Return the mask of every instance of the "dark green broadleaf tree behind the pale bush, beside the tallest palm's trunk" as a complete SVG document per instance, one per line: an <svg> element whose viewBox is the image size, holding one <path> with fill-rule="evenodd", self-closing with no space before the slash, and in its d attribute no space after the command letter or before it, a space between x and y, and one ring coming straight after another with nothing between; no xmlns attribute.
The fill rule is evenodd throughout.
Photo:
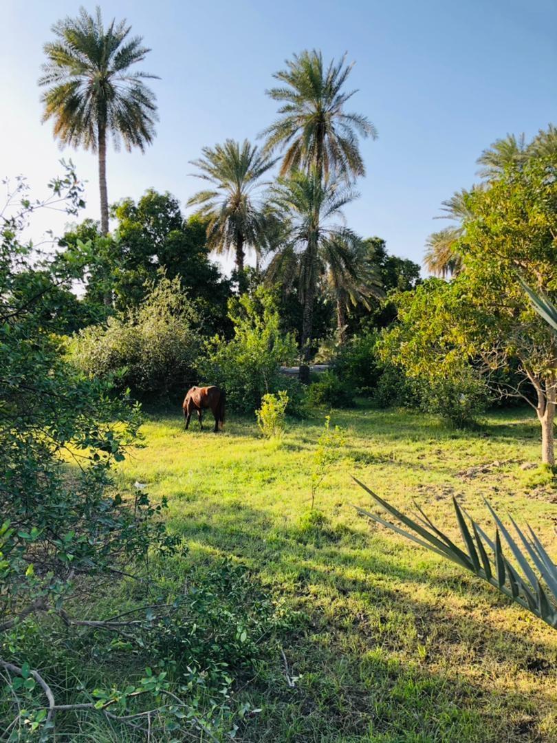
<svg viewBox="0 0 557 743"><path fill-rule="evenodd" d="M137 308L162 276L180 278L189 298L195 300L210 333L229 331L226 319L230 282L209 260L206 222L195 215L184 219L177 198L149 189L140 199L126 198L112 207L117 227L103 238L98 224L85 220L66 233L60 244L71 253L78 243L94 242L84 261L85 299L99 307L110 293L117 312ZM64 253L62 253L62 258ZM99 317L96 322L99 322Z"/></svg>

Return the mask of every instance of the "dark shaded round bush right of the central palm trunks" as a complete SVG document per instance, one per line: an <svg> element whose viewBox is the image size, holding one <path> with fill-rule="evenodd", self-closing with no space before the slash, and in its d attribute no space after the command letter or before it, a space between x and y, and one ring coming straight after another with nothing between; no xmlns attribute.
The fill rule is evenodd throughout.
<svg viewBox="0 0 557 743"><path fill-rule="evenodd" d="M333 371L339 380L362 394L376 389L382 375L376 343L377 333L356 336L341 346L333 363Z"/></svg>

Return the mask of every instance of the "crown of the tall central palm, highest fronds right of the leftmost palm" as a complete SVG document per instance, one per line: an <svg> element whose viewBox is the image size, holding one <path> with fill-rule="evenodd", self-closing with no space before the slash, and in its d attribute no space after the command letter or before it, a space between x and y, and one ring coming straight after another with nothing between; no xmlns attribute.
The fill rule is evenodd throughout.
<svg viewBox="0 0 557 743"><path fill-rule="evenodd" d="M353 65L323 65L321 52L303 51L287 60L287 69L273 77L282 86L267 91L282 103L279 117L264 132L267 152L284 151L280 175L315 168L319 178L330 173L350 180L365 175L357 134L377 137L374 125L361 114L347 113L345 103L356 91L342 87Z"/></svg>

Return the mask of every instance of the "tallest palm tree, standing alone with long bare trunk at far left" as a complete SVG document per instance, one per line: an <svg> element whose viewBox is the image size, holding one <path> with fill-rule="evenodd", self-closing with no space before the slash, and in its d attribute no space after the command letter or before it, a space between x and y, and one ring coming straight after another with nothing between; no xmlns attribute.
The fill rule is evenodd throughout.
<svg viewBox="0 0 557 743"><path fill-rule="evenodd" d="M142 37L128 39L126 21L102 25L100 8L90 16L80 8L77 18L65 18L52 27L56 41L45 44L48 62L39 85L48 86L42 95L45 113L53 119L54 136L62 145L83 146L99 155L100 223L108 234L106 188L106 144L111 134L118 149L143 152L154 137L157 107L152 91L143 80L154 78L129 68L145 59L150 50Z"/></svg>

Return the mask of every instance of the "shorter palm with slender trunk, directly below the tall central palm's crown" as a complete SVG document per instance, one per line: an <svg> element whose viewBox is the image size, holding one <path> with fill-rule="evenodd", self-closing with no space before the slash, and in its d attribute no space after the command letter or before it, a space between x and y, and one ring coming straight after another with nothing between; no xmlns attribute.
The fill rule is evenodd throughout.
<svg viewBox="0 0 557 743"><path fill-rule="evenodd" d="M313 331L313 305L319 277L324 265L334 259L336 276L346 272L348 257L354 255L359 238L336 219L342 218L342 207L357 198L350 186L330 179L322 181L316 167L309 173L294 172L290 178L279 178L270 189L270 208L284 224L284 247L272 259L269 276L290 276L299 280L303 305L300 347L304 363L300 380L309 379L310 342ZM345 279L348 283L348 278ZM339 286L340 286L339 282ZM344 285L342 286L344 289Z"/></svg>

